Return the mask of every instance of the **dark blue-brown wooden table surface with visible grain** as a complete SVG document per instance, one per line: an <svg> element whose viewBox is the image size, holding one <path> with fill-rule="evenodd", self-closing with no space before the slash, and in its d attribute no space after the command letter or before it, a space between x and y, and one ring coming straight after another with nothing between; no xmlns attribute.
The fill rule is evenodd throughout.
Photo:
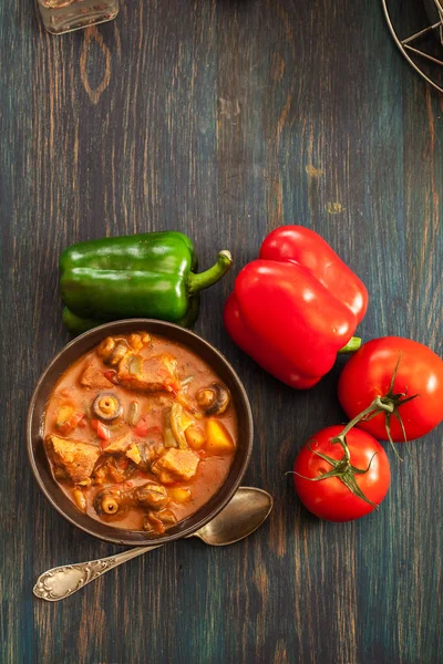
<svg viewBox="0 0 443 664"><path fill-rule="evenodd" d="M362 338L443 351L443 97L402 60L380 3L126 0L114 22L55 38L32 2L3 0L0 33L1 662L442 662L442 427L404 464L391 455L380 513L315 519L286 473L311 434L344 421L344 360L291 391L222 322L264 236L296 222L364 280ZM234 255L195 330L245 383L244 484L275 509L241 543L179 541L49 604L32 595L39 573L120 550L59 516L28 464L30 395L70 339L58 258L163 229L188 234L202 268Z"/></svg>

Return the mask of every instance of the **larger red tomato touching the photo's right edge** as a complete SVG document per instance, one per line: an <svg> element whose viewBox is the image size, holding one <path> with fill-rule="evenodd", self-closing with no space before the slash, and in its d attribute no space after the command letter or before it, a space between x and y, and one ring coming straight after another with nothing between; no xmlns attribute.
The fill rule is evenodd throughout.
<svg viewBox="0 0 443 664"><path fill-rule="evenodd" d="M390 394L396 404L408 440L420 438L443 419L443 361L425 345L383 336L363 344L346 364L339 380L339 400L350 419L364 411L377 396ZM402 401L418 395L402 404ZM358 426L377 438L387 440L387 416L383 413L360 422ZM404 442L401 425L390 417L392 440Z"/></svg>

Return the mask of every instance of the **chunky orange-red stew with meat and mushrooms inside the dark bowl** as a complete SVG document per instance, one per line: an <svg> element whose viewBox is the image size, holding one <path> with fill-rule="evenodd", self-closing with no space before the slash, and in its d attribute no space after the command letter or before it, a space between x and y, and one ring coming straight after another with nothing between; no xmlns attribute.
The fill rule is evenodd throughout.
<svg viewBox="0 0 443 664"><path fill-rule="evenodd" d="M133 343L143 335L143 344ZM184 345L143 332L107 339L109 347L105 340L80 357L54 386L44 417L48 458L55 481L83 512L110 526L158 537L205 505L226 479L237 446L235 405L212 367ZM125 345L123 360L112 364L109 349L115 355L115 349ZM97 415L99 395L99 405L105 407L110 398L111 406L116 400L121 415L111 422ZM182 425L174 432L173 407ZM119 445L117 452L106 452ZM80 450L85 450L82 457ZM192 468L181 465L182 457L190 459ZM147 485L151 494L136 494ZM102 496L111 501L100 504ZM103 511L104 506L116 511Z"/></svg>

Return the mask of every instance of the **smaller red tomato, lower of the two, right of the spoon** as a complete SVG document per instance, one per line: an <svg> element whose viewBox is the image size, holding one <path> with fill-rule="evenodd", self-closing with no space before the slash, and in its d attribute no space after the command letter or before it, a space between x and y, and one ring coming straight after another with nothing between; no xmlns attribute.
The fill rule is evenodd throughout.
<svg viewBox="0 0 443 664"><path fill-rule="evenodd" d="M331 443L331 438L342 430L342 426L333 425L318 432L301 448L293 466L293 485L301 502L313 515L328 521L352 521L373 511L374 505L380 505L387 495L391 481L387 453L375 438L357 428L352 428L346 436L350 463L354 469L367 470L368 466L369 469L361 475L354 474L353 477L358 490L374 505L353 494L339 477L317 481L305 479L321 477L333 469L332 464L316 453L331 459L343 459L343 448L339 443Z"/></svg>

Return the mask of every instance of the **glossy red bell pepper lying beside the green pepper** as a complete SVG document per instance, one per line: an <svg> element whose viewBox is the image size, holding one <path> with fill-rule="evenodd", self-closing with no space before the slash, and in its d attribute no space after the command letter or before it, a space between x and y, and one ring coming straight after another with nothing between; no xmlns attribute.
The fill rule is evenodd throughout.
<svg viewBox="0 0 443 664"><path fill-rule="evenodd" d="M233 340L266 371L307 390L348 350L367 308L364 284L317 232L282 226L239 272L224 319ZM351 341L349 350L358 345Z"/></svg>

